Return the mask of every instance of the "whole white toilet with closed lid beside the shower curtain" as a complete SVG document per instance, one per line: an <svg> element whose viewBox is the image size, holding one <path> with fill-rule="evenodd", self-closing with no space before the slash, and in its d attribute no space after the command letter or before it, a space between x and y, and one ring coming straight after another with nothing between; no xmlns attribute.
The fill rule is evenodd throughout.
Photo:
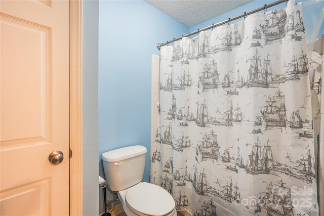
<svg viewBox="0 0 324 216"><path fill-rule="evenodd" d="M136 145L101 155L107 186L117 192L128 216L176 216L175 201L168 191L142 182L147 149Z"/></svg>

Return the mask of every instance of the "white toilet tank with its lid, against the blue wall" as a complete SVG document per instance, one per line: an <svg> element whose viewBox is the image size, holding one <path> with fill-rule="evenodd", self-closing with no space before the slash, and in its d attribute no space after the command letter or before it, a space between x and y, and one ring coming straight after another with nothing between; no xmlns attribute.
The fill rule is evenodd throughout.
<svg viewBox="0 0 324 216"><path fill-rule="evenodd" d="M108 188L121 191L143 180L145 155L144 146L129 146L104 152L101 155Z"/></svg>

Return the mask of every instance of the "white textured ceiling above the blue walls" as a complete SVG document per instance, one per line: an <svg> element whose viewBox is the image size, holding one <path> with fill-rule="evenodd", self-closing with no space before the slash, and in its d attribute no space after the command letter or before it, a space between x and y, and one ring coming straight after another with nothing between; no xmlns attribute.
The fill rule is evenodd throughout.
<svg viewBox="0 0 324 216"><path fill-rule="evenodd" d="M144 0L188 27L220 16L253 0Z"/></svg>

